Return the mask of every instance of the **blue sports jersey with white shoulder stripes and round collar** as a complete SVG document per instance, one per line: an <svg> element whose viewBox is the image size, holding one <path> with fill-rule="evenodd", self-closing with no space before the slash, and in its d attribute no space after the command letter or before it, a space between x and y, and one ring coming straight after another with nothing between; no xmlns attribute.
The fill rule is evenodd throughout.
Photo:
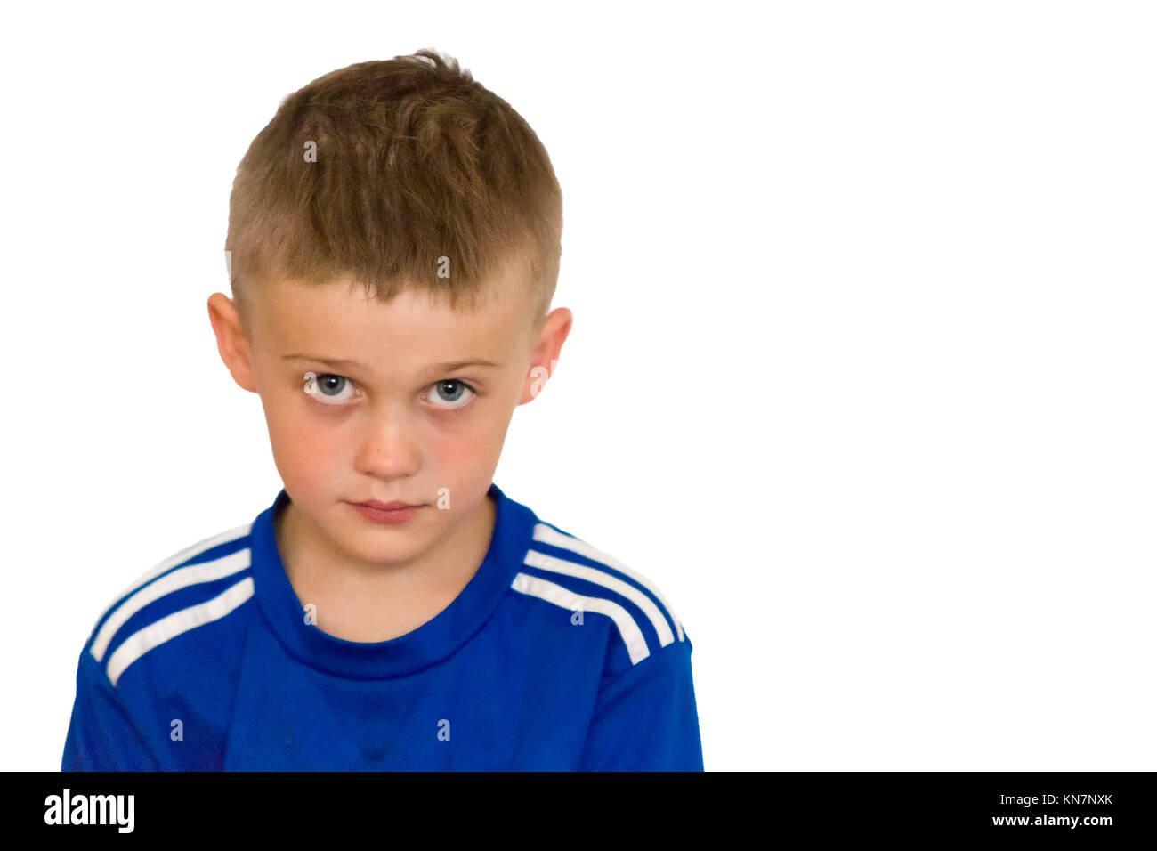
<svg viewBox="0 0 1157 851"><path fill-rule="evenodd" d="M653 582L507 497L458 596L412 632L310 623L273 519L125 589L81 651L71 770L694 770L691 640Z"/></svg>

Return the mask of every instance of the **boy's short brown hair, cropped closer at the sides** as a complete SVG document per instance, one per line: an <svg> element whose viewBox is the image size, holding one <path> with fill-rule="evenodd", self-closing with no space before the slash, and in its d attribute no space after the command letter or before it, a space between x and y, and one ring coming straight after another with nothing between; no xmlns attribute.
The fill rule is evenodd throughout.
<svg viewBox="0 0 1157 851"><path fill-rule="evenodd" d="M281 103L237 167L224 247L243 314L273 278L349 278L381 301L425 291L457 309L516 263L537 329L561 236L562 192L535 131L456 59L420 50Z"/></svg>

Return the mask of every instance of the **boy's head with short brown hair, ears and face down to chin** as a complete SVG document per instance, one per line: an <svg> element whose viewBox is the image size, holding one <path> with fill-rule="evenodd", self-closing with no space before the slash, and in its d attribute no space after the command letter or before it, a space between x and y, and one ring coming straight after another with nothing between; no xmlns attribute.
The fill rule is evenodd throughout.
<svg viewBox="0 0 1157 851"><path fill-rule="evenodd" d="M479 516L570 330L547 315L561 229L545 148L452 60L353 65L281 104L234 181L234 299L208 308L297 522L382 564ZM425 507L385 526L351 505L374 499Z"/></svg>

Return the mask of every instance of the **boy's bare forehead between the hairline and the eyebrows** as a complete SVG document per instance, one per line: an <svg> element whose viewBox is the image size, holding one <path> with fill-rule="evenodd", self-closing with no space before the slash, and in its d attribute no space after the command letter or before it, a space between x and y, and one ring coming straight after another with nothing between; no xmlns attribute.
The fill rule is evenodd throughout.
<svg viewBox="0 0 1157 851"><path fill-rule="evenodd" d="M510 274L487 281L476 305L456 309L447 296L420 289L382 302L349 278L275 279L263 283L253 313L255 345L279 355L308 352L403 371L467 358L502 361L529 330L526 291Z"/></svg>

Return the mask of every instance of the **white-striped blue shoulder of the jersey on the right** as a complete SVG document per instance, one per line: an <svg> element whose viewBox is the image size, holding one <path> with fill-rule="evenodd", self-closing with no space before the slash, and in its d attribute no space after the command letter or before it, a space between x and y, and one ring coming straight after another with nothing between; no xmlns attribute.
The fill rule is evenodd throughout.
<svg viewBox="0 0 1157 851"><path fill-rule="evenodd" d="M604 618L612 628L611 667L633 667L671 645L691 651L675 608L649 575L538 518L511 587L581 612L575 617Z"/></svg>

